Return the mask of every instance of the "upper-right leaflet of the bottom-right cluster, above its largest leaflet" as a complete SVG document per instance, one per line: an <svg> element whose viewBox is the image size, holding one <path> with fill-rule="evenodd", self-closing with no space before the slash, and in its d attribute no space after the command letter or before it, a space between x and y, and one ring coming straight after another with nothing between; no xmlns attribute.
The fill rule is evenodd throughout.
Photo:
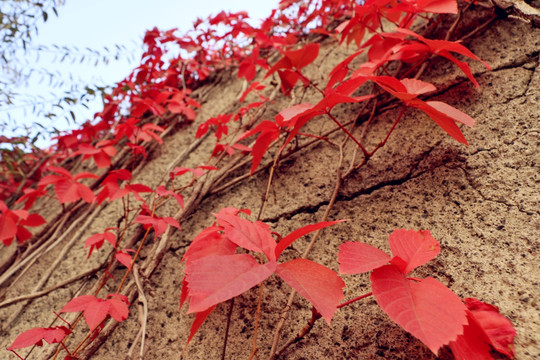
<svg viewBox="0 0 540 360"><path fill-rule="evenodd" d="M435 258L441 251L441 245L428 230L394 230L388 237L388 242L392 255L403 260L399 264L392 263L405 275Z"/></svg>

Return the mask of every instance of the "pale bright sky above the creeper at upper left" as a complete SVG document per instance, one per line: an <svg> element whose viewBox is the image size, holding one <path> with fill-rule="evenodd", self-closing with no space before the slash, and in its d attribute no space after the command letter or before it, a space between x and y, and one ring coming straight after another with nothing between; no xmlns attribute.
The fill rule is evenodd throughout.
<svg viewBox="0 0 540 360"><path fill-rule="evenodd" d="M278 5L278 0L248 1L248 0L66 0L64 5L57 8L58 17L49 14L48 21L38 26L38 34L32 39L34 45L46 45L49 48L58 46L86 47L103 51L104 47L114 49L116 44L124 45L128 50L122 52L119 61L109 64L95 65L95 61L84 61L75 64L69 61L58 61L58 54L41 53L27 55L27 60L47 69L49 73L59 73L55 80L72 77L76 82L89 84L112 85L125 78L137 65L142 53L142 37L147 29L158 27L168 30L178 28L184 33L191 28L197 17L206 18L221 10L247 11L253 19L267 17L271 10ZM56 60L55 60L56 57ZM132 59L131 61L129 59ZM52 99L51 91L61 93L62 88L49 86L49 78L35 77L31 84L18 91L45 99ZM101 101L89 104L90 109L76 108L76 121L82 123L92 118L95 112L101 110ZM4 109L5 110L5 109ZM73 122L63 118L48 121L36 118L31 108L19 107L7 110L18 125L39 121L47 128L55 127L60 130L76 127ZM0 116L6 116L6 110ZM44 143L44 139L41 143Z"/></svg>

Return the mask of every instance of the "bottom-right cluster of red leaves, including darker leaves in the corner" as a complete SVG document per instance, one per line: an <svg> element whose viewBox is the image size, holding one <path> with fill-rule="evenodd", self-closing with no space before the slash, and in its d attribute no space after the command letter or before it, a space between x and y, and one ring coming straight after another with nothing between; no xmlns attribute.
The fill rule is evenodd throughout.
<svg viewBox="0 0 540 360"><path fill-rule="evenodd" d="M513 357L515 330L495 307L476 299L465 299L463 304L434 278L406 277L440 252L438 241L429 231L395 230L388 241L393 257L371 245L342 244L338 254L340 273L372 271L371 286L379 306L435 354L450 345L457 359L492 359L492 345Z"/></svg>

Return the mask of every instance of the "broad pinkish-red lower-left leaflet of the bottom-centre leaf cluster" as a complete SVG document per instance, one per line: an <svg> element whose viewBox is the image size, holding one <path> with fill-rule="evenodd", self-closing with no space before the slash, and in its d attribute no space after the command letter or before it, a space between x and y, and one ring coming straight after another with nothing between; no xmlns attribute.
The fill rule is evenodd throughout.
<svg viewBox="0 0 540 360"><path fill-rule="evenodd" d="M272 275L275 268L275 262L261 265L249 254L206 256L193 261L186 271L188 313L207 310L244 293Z"/></svg>

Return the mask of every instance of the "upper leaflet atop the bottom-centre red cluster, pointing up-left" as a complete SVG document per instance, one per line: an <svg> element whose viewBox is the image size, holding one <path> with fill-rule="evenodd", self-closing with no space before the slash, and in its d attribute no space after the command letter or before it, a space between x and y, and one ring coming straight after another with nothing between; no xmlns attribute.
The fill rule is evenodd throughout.
<svg viewBox="0 0 540 360"><path fill-rule="evenodd" d="M234 215L218 214L216 218L230 241L244 249L265 254L269 261L276 260L276 241L272 237L270 226Z"/></svg>

